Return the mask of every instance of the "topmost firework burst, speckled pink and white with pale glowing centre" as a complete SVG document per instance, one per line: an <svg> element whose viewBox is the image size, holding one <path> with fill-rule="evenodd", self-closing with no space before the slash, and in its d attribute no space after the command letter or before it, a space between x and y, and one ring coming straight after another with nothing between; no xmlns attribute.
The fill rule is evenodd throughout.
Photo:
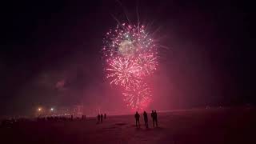
<svg viewBox="0 0 256 144"><path fill-rule="evenodd" d="M155 44L144 26L130 26L125 23L106 33L103 39L103 53L107 58L119 56L136 56L154 52Z"/></svg>

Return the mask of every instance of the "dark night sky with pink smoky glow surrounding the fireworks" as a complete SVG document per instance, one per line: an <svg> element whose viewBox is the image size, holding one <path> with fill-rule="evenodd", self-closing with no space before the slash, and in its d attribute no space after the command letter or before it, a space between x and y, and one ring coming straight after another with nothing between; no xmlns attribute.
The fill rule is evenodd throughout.
<svg viewBox="0 0 256 144"><path fill-rule="evenodd" d="M121 22L153 22L161 43L150 108L255 104L253 8L235 1L17 1L2 3L0 115L37 106L123 110L104 77L102 38Z"/></svg>

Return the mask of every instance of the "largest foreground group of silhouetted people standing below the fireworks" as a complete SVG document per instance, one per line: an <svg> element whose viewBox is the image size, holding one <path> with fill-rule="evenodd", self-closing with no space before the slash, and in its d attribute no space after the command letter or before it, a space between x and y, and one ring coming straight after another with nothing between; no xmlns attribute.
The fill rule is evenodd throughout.
<svg viewBox="0 0 256 144"><path fill-rule="evenodd" d="M140 115L138 114L138 111L136 111L136 114L134 115L134 117L135 117L135 121L136 121L136 127L138 128L138 127L140 127L140 123L139 123ZM145 123L146 129L147 129L147 128L149 128L149 119L147 117L146 111L143 112L143 118L144 118L144 123ZM158 114L157 114L156 110L152 110L151 118L153 121L153 127L154 126L158 127Z"/></svg>

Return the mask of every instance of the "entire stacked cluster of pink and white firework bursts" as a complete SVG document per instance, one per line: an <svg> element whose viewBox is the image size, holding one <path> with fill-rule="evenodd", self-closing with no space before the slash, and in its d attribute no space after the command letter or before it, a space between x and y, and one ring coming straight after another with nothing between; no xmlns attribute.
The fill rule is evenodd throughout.
<svg viewBox="0 0 256 144"><path fill-rule="evenodd" d="M150 88L144 82L157 70L157 46L145 26L126 23L109 30L103 38L106 78L123 87L125 102L132 109L143 109L151 101Z"/></svg>

